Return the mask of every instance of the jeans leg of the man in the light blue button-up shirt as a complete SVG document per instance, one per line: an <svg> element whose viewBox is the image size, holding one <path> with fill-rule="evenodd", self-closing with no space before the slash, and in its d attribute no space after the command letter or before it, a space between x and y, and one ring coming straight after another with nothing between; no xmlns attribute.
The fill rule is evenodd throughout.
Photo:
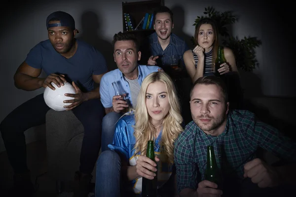
<svg viewBox="0 0 296 197"><path fill-rule="evenodd" d="M113 142L116 122L123 115L123 113L110 112L102 122L102 152L109 150L108 144Z"/></svg>

